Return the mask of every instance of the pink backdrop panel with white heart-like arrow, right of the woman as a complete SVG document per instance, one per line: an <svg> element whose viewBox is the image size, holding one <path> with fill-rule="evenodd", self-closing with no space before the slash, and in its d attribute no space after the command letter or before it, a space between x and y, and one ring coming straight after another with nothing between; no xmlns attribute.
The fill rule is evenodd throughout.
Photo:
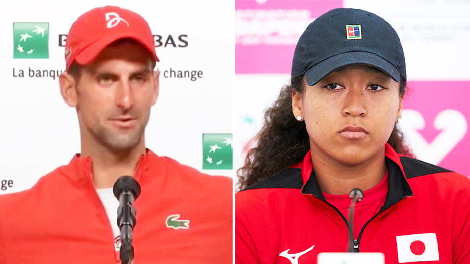
<svg viewBox="0 0 470 264"><path fill-rule="evenodd" d="M470 81L409 81L408 87L402 127L415 154L470 176Z"/></svg>

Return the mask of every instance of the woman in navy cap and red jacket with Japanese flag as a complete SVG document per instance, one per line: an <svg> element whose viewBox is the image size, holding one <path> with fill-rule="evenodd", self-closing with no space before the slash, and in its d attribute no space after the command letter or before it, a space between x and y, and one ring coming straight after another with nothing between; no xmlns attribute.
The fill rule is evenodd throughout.
<svg viewBox="0 0 470 264"><path fill-rule="evenodd" d="M405 88L400 39L382 18L339 8L306 28L238 171L236 263L346 251L470 263L470 180L413 158L397 128Z"/></svg>

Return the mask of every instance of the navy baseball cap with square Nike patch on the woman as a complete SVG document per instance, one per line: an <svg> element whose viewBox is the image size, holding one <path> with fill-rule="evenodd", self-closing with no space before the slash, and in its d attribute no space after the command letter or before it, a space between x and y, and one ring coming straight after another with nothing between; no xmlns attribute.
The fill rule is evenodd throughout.
<svg viewBox="0 0 470 264"><path fill-rule="evenodd" d="M397 32L381 17L361 9L333 9L308 25L295 47L292 77L309 86L349 64L373 66L394 81L406 81Z"/></svg>

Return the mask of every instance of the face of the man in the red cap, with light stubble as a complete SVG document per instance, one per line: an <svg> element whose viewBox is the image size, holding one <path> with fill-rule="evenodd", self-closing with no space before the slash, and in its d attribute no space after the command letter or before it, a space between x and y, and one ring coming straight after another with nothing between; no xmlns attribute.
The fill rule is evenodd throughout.
<svg viewBox="0 0 470 264"><path fill-rule="evenodd" d="M158 73L141 45L121 42L106 47L81 69L76 81L82 144L122 151L143 143L158 95Z"/></svg>

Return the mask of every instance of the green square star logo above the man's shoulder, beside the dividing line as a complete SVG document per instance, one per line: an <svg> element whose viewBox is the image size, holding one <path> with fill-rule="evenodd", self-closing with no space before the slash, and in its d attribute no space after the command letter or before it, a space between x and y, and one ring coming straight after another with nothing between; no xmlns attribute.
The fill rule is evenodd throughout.
<svg viewBox="0 0 470 264"><path fill-rule="evenodd" d="M232 170L232 134L203 134L202 155L203 170Z"/></svg>

